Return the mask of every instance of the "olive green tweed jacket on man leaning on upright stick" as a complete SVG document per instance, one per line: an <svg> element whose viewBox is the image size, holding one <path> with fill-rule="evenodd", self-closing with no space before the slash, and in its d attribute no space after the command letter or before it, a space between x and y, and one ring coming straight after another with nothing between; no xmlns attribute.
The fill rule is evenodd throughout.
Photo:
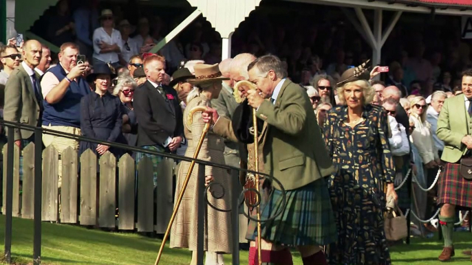
<svg viewBox="0 0 472 265"><path fill-rule="evenodd" d="M264 172L277 178L286 190L303 187L333 172L310 99L298 84L285 80L275 104L264 101L257 117L265 122L259 143ZM237 141L226 117L219 118L213 132Z"/></svg>

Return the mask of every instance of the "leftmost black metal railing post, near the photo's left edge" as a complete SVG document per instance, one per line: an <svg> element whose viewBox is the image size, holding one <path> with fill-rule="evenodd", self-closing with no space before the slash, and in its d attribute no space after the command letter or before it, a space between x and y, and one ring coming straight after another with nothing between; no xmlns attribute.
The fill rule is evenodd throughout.
<svg viewBox="0 0 472 265"><path fill-rule="evenodd" d="M6 187L6 220L5 220L5 262L12 264L12 204L13 204L13 159L14 159L14 130L8 126L7 147L7 187Z"/></svg>

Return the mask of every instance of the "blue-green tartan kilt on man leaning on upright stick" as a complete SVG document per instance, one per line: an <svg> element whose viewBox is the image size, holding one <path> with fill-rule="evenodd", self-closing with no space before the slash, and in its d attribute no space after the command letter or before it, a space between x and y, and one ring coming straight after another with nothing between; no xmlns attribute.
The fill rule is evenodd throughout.
<svg viewBox="0 0 472 265"><path fill-rule="evenodd" d="M336 220L331 207L330 194L324 178L298 189L283 192L272 187L266 200L261 201L261 220L282 211L268 222L261 222L261 238L284 246L315 246L336 241ZM264 196L264 194L263 194ZM252 216L255 216L255 211ZM250 220L246 239L257 238L257 222Z"/></svg>

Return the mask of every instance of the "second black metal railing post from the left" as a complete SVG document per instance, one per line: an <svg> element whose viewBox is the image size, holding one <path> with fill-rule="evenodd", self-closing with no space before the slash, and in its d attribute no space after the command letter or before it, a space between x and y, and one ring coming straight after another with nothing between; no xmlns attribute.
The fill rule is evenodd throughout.
<svg viewBox="0 0 472 265"><path fill-rule="evenodd" d="M34 239L33 264L41 264L41 200L43 193L43 141L42 132L34 130Z"/></svg>

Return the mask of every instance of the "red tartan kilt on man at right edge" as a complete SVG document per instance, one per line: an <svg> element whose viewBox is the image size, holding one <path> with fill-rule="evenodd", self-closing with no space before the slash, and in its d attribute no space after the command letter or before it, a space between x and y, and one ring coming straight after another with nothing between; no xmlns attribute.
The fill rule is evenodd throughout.
<svg viewBox="0 0 472 265"><path fill-rule="evenodd" d="M459 163L447 163L438 180L438 204L472 207L472 181L462 178Z"/></svg>

